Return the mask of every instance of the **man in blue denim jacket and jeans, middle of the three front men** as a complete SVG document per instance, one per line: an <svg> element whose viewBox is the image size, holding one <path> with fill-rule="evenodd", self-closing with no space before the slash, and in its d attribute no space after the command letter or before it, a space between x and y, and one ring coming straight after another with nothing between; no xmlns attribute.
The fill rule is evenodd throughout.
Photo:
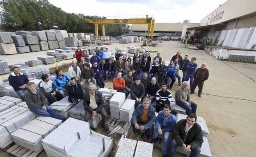
<svg viewBox="0 0 256 157"><path fill-rule="evenodd" d="M174 129L176 124L176 117L171 114L171 106L165 104L163 111L158 113L158 116L155 119L155 125L153 130L153 139L150 143L158 141L158 135L164 136L164 145L162 148L162 157L167 157L167 150L169 145L169 136Z"/></svg>

